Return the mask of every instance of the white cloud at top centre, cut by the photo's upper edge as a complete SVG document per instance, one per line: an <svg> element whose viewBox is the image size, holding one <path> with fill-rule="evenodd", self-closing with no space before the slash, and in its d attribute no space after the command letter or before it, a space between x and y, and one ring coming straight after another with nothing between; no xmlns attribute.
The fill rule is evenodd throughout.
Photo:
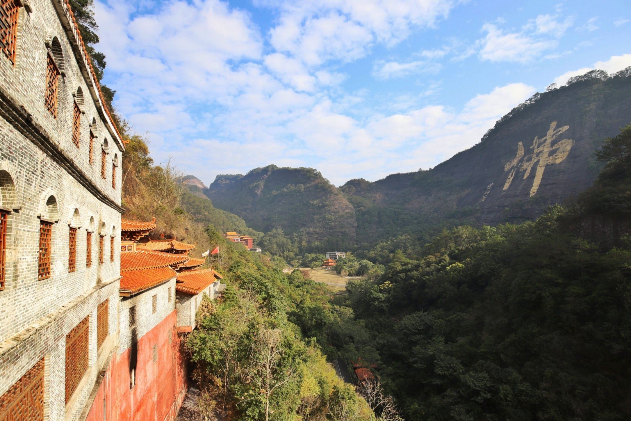
<svg viewBox="0 0 631 421"><path fill-rule="evenodd" d="M281 9L269 31L274 49L309 66L329 60L352 61L376 44L394 45L413 28L433 27L445 18L452 0L300 0L259 2Z"/></svg>

